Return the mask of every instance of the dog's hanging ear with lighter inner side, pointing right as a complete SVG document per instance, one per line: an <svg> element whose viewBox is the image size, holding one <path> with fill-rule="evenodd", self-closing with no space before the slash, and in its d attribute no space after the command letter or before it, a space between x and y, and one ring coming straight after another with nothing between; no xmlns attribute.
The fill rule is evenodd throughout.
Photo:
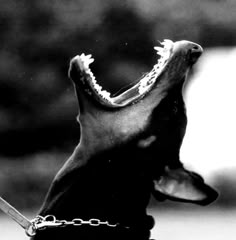
<svg viewBox="0 0 236 240"><path fill-rule="evenodd" d="M183 167L166 167L160 179L154 180L153 196L157 200L169 199L208 205L216 200L218 193L208 186L200 175Z"/></svg>

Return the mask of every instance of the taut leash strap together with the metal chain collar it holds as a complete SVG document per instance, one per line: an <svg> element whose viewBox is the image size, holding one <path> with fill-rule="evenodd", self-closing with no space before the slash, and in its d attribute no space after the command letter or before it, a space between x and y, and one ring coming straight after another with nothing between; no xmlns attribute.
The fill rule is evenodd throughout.
<svg viewBox="0 0 236 240"><path fill-rule="evenodd" d="M36 218L29 220L10 203L0 197L0 209L6 213L11 219L17 222L24 230L27 236L35 236L38 230L44 230L46 228L66 227L66 226L82 226L89 225L93 227L107 226L117 227L119 224L109 223L108 221L101 221L97 218L91 218L89 220L83 220L81 218L74 218L72 221L57 220L54 215L47 215L45 217L38 215ZM126 227L125 228L130 228Z"/></svg>

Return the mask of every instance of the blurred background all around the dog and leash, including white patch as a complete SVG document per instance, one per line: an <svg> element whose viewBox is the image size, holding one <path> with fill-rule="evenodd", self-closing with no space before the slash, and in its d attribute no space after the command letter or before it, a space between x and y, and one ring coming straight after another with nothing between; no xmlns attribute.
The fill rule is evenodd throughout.
<svg viewBox="0 0 236 240"><path fill-rule="evenodd" d="M158 40L204 48L186 87L186 167L215 186L209 207L150 202L160 240L236 234L235 0L0 0L0 196L34 217L79 140L70 59L92 54L115 93L156 62ZM0 212L1 239L27 239Z"/></svg>

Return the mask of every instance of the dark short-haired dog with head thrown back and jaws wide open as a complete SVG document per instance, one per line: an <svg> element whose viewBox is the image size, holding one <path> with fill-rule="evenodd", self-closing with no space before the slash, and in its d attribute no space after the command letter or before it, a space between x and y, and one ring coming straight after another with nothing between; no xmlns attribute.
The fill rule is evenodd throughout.
<svg viewBox="0 0 236 240"><path fill-rule="evenodd" d="M179 159L187 124L182 89L203 50L189 41L161 44L153 69L118 96L97 83L91 55L71 60L80 142L39 211L70 224L38 230L33 240L148 240L154 226L146 212L151 195L200 205L217 198Z"/></svg>

